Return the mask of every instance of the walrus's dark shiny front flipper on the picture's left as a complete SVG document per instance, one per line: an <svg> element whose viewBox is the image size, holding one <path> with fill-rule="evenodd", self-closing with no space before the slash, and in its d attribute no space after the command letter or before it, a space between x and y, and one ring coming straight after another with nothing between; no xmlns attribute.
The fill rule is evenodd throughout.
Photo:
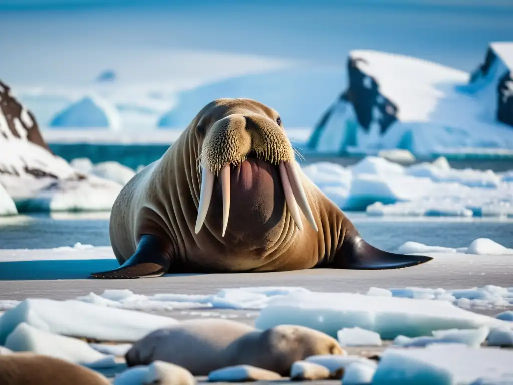
<svg viewBox="0 0 513 385"><path fill-rule="evenodd" d="M143 235L135 254L120 267L107 272L91 273L91 276L104 279L160 277L171 266L171 256L163 243L153 235Z"/></svg>

